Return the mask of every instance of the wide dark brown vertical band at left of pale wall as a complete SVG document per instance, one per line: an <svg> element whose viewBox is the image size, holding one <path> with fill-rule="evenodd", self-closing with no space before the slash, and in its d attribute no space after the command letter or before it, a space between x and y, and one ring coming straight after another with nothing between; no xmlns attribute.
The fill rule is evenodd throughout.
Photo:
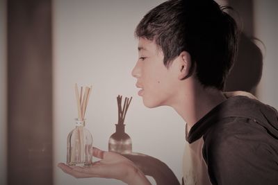
<svg viewBox="0 0 278 185"><path fill-rule="evenodd" d="M51 0L8 0L8 184L53 184Z"/></svg>

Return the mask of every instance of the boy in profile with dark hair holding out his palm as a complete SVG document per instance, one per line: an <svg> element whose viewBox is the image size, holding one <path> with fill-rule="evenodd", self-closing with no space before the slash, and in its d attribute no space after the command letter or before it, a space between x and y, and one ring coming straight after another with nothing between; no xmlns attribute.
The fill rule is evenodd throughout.
<svg viewBox="0 0 278 185"><path fill-rule="evenodd" d="M167 105L186 122L184 184L277 184L277 111L245 96L227 98L224 82L237 51L236 23L212 0L171 0L136 28L132 71L147 107ZM93 150L90 168L59 164L74 177L149 184L133 162Z"/></svg>

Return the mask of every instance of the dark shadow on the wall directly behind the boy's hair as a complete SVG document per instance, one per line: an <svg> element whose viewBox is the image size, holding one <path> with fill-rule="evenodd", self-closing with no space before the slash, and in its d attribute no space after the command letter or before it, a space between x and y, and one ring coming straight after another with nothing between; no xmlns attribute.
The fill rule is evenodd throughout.
<svg viewBox="0 0 278 185"><path fill-rule="evenodd" d="M231 12L242 30L239 37L238 56L227 78L225 91L248 91L256 95L256 86L261 80L263 69L263 55L254 44L254 10L253 0L229 1L229 6L234 8Z"/></svg>

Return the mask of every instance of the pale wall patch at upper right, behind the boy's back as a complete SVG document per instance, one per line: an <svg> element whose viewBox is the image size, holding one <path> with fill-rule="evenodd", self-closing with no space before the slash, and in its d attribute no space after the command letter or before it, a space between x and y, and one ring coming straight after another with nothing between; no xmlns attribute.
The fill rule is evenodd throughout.
<svg viewBox="0 0 278 185"><path fill-rule="evenodd" d="M261 39L263 73L258 86L258 97L278 109L278 1L254 1L254 34Z"/></svg>

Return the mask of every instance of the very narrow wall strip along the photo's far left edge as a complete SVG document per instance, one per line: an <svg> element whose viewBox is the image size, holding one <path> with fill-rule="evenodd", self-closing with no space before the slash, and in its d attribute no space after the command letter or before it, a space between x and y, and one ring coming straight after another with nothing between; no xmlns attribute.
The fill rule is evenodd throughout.
<svg viewBox="0 0 278 185"><path fill-rule="evenodd" d="M0 184L6 184L6 1L0 0Z"/></svg>

